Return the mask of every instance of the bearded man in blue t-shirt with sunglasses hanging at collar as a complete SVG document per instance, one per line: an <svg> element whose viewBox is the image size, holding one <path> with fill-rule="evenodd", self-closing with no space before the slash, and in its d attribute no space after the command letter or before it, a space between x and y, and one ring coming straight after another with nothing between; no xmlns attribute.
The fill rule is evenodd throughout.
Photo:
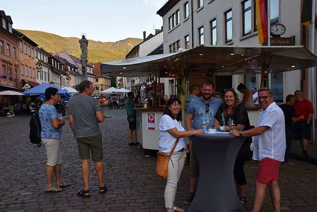
<svg viewBox="0 0 317 212"><path fill-rule="evenodd" d="M217 98L212 98L213 83L209 80L203 83L202 97L193 99L187 108L186 116L186 128L187 130L202 129L202 117L209 118L208 127L212 127L214 115L218 111L219 106L222 105L222 101ZM192 125L193 119L193 125ZM184 204L190 205L195 197L196 184L199 177L199 165L194 147L191 148L190 154L190 166L189 166L189 183L190 183L190 195L184 201Z"/></svg>

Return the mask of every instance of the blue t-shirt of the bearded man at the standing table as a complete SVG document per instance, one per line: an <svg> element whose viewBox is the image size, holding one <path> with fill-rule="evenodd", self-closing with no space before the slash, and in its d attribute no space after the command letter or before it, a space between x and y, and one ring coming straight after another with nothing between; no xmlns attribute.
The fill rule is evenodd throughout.
<svg viewBox="0 0 317 212"><path fill-rule="evenodd" d="M212 97L211 101L207 103L209 105L209 111L206 113L206 103L203 102L202 97L193 99L188 106L187 113L193 114L193 128L203 129L202 117L205 115L210 117L210 123L207 128L212 127L214 116L222 105L222 100Z"/></svg>

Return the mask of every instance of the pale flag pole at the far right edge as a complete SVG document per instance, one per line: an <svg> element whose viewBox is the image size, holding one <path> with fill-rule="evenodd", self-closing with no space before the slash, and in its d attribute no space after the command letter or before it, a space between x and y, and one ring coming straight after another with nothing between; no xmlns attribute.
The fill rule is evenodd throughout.
<svg viewBox="0 0 317 212"><path fill-rule="evenodd" d="M316 14L316 0L313 0L312 2L312 24L311 24L311 52L315 54L315 14ZM312 73L312 101L314 110L316 111L316 68L313 67L313 73ZM315 117L316 112L314 112L313 115L313 140L312 143L315 144Z"/></svg>

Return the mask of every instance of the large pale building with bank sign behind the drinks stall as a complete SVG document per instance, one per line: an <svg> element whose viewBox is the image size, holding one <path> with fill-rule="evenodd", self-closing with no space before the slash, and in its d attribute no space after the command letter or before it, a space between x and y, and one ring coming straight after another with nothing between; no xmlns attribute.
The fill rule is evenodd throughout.
<svg viewBox="0 0 317 212"><path fill-rule="evenodd" d="M295 45L308 43L308 30L301 25L301 4L301 0L270 0L270 23L285 25L282 37L295 36ZM259 47L255 8L255 0L168 0L157 12L163 18L164 53L203 44ZM268 85L275 100L283 102L298 89L305 94L309 84L305 72L307 70L269 74ZM231 84L225 83L230 81ZM215 87L218 91L231 86L236 89L241 82L250 90L259 89L261 75L217 76ZM173 83L169 80L169 94L174 92Z"/></svg>

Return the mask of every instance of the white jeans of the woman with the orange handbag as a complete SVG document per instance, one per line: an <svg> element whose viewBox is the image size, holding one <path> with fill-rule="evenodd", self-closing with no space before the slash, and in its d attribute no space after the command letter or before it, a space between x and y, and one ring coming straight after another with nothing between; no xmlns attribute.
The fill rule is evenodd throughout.
<svg viewBox="0 0 317 212"><path fill-rule="evenodd" d="M165 208L173 208L177 190L177 182L182 173L186 151L174 153L168 162L168 175L164 192ZM173 166L174 165L174 166Z"/></svg>

